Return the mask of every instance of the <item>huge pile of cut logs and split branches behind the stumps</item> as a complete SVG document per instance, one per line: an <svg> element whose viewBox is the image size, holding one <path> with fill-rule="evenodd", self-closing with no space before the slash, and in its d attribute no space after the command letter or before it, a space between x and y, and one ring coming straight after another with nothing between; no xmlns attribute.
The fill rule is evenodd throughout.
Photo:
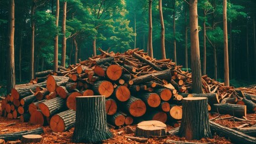
<svg viewBox="0 0 256 144"><path fill-rule="evenodd" d="M139 49L125 53L99 50L101 55L59 68L57 73L37 73L39 83L16 85L2 100L3 114L31 124L49 124L59 132L73 127L76 97L82 95L105 95L107 121L113 126L158 120L178 127L183 97L208 97L208 110L221 112L225 106L246 116L247 106L255 112L255 96L249 99L243 89L223 86L207 75L202 76L204 94L191 94L192 74L170 59L152 59ZM237 108L237 101L245 106Z"/></svg>

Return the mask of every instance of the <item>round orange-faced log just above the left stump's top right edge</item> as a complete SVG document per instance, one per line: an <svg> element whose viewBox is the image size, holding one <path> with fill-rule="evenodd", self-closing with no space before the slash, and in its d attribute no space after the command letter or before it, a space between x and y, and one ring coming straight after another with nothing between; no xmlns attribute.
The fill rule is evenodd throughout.
<svg viewBox="0 0 256 144"><path fill-rule="evenodd" d="M108 82L107 80L102 80L94 83L93 90L97 94L105 95L105 97L108 98L111 94L113 94L114 86L111 82Z"/></svg>

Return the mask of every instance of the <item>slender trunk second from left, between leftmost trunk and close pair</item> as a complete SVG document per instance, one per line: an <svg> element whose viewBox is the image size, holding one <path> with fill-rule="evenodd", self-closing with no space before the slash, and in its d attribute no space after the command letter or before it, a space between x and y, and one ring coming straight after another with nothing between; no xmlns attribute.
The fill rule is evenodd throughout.
<svg viewBox="0 0 256 144"><path fill-rule="evenodd" d="M35 50L35 21L34 14L36 10L36 1L33 0L31 6L31 49L30 49L30 79L34 79L34 50Z"/></svg>

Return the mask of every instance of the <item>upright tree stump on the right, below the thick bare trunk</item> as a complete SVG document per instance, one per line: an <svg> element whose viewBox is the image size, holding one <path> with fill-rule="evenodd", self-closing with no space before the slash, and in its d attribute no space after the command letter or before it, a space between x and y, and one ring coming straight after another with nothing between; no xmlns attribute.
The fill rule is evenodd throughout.
<svg viewBox="0 0 256 144"><path fill-rule="evenodd" d="M186 140L211 137L206 97L183 98L183 118L179 135Z"/></svg>

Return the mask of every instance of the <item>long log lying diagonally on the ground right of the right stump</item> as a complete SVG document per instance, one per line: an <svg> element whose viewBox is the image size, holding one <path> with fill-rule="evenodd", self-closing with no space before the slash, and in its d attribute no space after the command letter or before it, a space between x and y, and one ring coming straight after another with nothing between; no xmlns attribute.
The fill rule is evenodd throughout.
<svg viewBox="0 0 256 144"><path fill-rule="evenodd" d="M228 127L223 127L222 125L217 124L216 122L209 121L210 128L213 133L217 133L219 136L224 136L226 139L230 139L233 143L246 143L246 144L255 144L256 137L248 136L242 132L233 130Z"/></svg>

